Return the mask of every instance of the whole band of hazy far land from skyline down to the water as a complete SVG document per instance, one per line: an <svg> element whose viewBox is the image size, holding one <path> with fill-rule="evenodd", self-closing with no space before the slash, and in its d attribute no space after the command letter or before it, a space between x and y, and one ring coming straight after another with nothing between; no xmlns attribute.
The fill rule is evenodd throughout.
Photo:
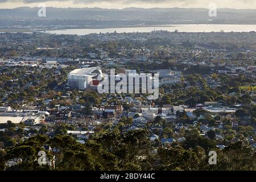
<svg viewBox="0 0 256 182"><path fill-rule="evenodd" d="M217 9L217 17L210 17L203 8L125 9L53 8L47 7L46 17L38 16L38 7L0 9L0 27L8 26L75 26L129 27L157 24L256 24L256 10ZM40 20L40 21L39 21Z"/></svg>

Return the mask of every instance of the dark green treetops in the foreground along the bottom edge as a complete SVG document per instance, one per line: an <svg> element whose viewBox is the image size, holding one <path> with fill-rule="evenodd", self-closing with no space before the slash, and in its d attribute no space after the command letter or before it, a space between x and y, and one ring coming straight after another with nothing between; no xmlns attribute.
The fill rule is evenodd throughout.
<svg viewBox="0 0 256 182"><path fill-rule="evenodd" d="M156 155L150 154L152 145L145 129L125 133L118 129L100 131L85 144L68 135L53 138L37 135L6 151L0 150L0 169L5 169L5 163L13 160L17 164L7 170L255 170L256 152L249 144L232 143L220 150L202 138L198 130L186 132L184 145L159 147ZM46 145L53 148L46 154L47 159L55 156L55 168L38 163L38 152ZM210 150L217 152L217 165L208 163Z"/></svg>

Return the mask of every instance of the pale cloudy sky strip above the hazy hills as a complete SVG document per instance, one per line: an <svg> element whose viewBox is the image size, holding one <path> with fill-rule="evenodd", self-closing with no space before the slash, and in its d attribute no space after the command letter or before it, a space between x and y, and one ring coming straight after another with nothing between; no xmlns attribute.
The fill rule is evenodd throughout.
<svg viewBox="0 0 256 182"><path fill-rule="evenodd" d="M106 9L125 7L202 7L209 9L210 3L215 3L217 8L256 9L256 0L0 0L0 8L38 7L39 3L44 3L47 7L101 7Z"/></svg>

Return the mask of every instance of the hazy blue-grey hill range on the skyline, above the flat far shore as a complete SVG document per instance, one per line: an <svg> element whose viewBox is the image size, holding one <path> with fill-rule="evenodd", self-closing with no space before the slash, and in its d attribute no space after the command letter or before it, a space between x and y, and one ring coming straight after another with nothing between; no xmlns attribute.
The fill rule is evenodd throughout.
<svg viewBox="0 0 256 182"><path fill-rule="evenodd" d="M0 9L1 18L42 19L37 16L39 8L19 7ZM47 7L47 19L88 19L88 20L159 20L162 22L200 22L208 19L230 23L255 22L256 10L217 9L217 17L209 17L208 9L152 8L126 9L101 8L53 8Z"/></svg>

